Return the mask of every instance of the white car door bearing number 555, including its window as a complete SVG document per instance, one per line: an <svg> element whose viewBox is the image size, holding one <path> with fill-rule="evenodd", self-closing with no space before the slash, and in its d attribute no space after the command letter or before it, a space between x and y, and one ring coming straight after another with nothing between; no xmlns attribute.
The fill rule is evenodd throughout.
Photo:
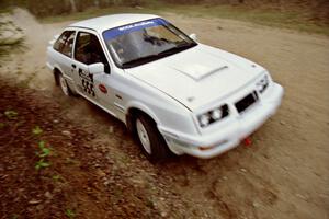
<svg viewBox="0 0 329 219"><path fill-rule="evenodd" d="M111 77L110 66L97 34L91 31L79 31L73 57L71 68L78 92L114 114L113 93L106 83ZM98 74L90 73L89 66L98 62L104 65L105 71Z"/></svg>

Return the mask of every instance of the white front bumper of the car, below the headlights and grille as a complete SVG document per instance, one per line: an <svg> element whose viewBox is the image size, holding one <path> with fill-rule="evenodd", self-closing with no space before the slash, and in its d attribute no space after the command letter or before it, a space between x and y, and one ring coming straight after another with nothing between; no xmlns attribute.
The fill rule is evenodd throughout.
<svg viewBox="0 0 329 219"><path fill-rule="evenodd" d="M159 127L168 147L177 154L190 154L208 159L237 147L242 139L254 132L281 105L284 90L273 83L272 88L246 114L230 119L224 127L200 136L175 134Z"/></svg>

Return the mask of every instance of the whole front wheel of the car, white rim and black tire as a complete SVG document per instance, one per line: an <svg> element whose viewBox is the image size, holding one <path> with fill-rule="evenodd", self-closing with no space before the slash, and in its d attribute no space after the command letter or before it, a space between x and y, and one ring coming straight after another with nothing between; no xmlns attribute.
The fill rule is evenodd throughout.
<svg viewBox="0 0 329 219"><path fill-rule="evenodd" d="M140 148L150 161L162 161L171 154L157 125L149 117L138 115L135 119L135 129Z"/></svg>

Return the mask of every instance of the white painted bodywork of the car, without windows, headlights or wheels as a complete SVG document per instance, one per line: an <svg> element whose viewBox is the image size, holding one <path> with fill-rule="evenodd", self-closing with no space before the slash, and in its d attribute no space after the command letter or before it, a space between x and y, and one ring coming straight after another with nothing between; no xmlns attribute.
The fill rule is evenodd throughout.
<svg viewBox="0 0 329 219"><path fill-rule="evenodd" d="M218 155L238 146L241 139L274 115L282 101L283 88L273 82L261 66L211 46L198 44L135 68L118 68L105 46L103 31L155 18L159 16L117 14L86 20L66 28L92 33L101 43L111 74L93 76L95 97L81 92L77 70L71 68L75 64L77 69L88 72L88 66L56 51L53 48L55 41L50 41L47 48L47 67L53 72L55 69L60 71L73 92L126 125L131 108L145 112L157 123L168 147L177 154ZM257 92L258 101L239 113L235 104L254 92L257 82L264 76L269 77L266 90ZM100 92L99 84L103 84L107 92ZM197 116L223 104L228 105L229 115L201 127Z"/></svg>

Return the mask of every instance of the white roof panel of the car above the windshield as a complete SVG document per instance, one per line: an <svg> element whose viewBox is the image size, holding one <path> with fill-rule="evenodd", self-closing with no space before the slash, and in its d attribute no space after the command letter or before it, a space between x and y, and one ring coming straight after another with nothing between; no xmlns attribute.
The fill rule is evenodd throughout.
<svg viewBox="0 0 329 219"><path fill-rule="evenodd" d="M83 21L79 21L77 23L70 24L69 27L82 27L82 28L91 28L99 33L106 31L109 28L114 28L117 26L123 26L126 24L135 23L138 21L145 21L149 19L159 18L154 14L112 14L105 16L99 16L94 19L88 19Z"/></svg>

